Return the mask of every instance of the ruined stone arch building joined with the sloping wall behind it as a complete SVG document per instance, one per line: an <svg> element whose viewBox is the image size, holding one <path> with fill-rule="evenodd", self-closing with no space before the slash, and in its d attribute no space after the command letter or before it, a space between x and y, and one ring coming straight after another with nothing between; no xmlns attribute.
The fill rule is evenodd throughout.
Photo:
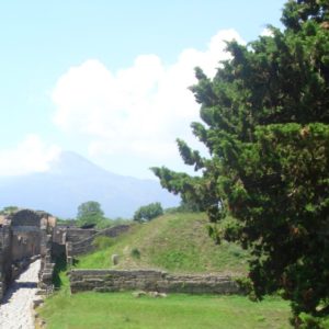
<svg viewBox="0 0 329 329"><path fill-rule="evenodd" d="M7 287L32 260L41 258L38 287L41 294L48 294L57 257L65 257L71 264L73 257L94 249L93 240L99 235L113 237L128 228L121 225L99 231L60 226L50 214L31 209L0 216L0 302Z"/></svg>

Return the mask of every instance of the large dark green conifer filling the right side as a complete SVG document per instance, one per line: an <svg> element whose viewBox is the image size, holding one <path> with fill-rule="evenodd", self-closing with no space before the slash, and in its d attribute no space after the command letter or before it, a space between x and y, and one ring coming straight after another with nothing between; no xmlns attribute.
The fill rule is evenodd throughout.
<svg viewBox="0 0 329 329"><path fill-rule="evenodd" d="M250 249L257 297L281 290L296 327L302 313L329 314L328 9L327 0L291 0L284 31L229 43L231 59L213 80L197 68L191 90L203 123L192 129L211 158L178 140L202 175L152 169L162 186L207 212L217 241ZM236 223L219 231L227 214Z"/></svg>

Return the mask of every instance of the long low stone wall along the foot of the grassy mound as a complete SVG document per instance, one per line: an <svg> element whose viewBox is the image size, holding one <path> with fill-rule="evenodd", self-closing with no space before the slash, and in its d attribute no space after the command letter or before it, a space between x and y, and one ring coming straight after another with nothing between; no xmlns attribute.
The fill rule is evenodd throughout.
<svg viewBox="0 0 329 329"><path fill-rule="evenodd" d="M189 294L239 294L238 284L229 276L175 275L152 270L71 270L71 293L148 291Z"/></svg>

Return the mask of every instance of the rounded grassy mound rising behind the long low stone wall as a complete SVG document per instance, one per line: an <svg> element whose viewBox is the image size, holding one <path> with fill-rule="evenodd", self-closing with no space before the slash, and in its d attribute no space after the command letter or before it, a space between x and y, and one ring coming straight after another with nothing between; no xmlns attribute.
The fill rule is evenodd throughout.
<svg viewBox="0 0 329 329"><path fill-rule="evenodd" d="M204 214L171 214L132 230L114 240L113 246L80 257L78 268L109 269L111 254L121 257L117 268L152 268L171 272L247 271L247 252L235 243L215 246L206 229Z"/></svg>

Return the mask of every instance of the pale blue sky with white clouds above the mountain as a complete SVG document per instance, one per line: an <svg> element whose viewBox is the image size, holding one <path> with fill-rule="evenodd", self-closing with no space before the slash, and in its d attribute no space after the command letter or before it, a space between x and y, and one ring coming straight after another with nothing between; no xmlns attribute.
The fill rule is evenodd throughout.
<svg viewBox="0 0 329 329"><path fill-rule="evenodd" d="M189 170L194 68L213 77L225 39L281 27L283 0L0 2L0 178L75 151L114 173Z"/></svg>

